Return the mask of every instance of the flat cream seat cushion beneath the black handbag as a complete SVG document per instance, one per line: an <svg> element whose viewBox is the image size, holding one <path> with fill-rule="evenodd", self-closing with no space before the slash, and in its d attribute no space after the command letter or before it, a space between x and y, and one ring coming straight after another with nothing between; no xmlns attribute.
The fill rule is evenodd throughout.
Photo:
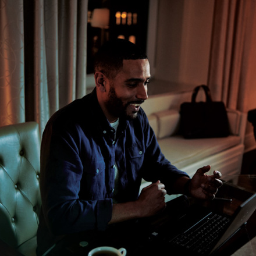
<svg viewBox="0 0 256 256"><path fill-rule="evenodd" d="M158 140L158 143L165 157L178 169L182 169L191 163L234 147L240 144L240 141L241 138L238 136L186 140L176 135Z"/></svg>

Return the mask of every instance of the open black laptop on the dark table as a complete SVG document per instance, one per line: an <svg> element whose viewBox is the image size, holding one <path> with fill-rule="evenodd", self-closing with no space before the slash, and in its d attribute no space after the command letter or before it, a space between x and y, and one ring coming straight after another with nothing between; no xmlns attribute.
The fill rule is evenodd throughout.
<svg viewBox="0 0 256 256"><path fill-rule="evenodd" d="M200 205L192 205L186 214L177 221L165 223L155 229L149 239L158 241L166 252L179 251L180 255L214 255L227 240L243 227L256 209L256 194L243 190L233 184L223 184L223 191L232 194L232 189L239 191L238 202L218 202L229 212L236 208L232 215L222 211L211 211ZM226 194L224 193L225 197ZM168 254L166 254L168 255Z"/></svg>

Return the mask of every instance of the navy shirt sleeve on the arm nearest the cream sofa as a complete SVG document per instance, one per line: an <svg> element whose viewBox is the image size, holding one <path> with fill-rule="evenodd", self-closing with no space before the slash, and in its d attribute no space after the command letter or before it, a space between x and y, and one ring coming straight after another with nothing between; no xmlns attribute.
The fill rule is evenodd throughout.
<svg viewBox="0 0 256 256"><path fill-rule="evenodd" d="M151 128L147 116L141 111L142 124L144 129L145 158L143 164L143 179L150 182L161 180L165 184L168 194L172 193L172 186L176 179L181 176L187 176L186 172L179 170L176 166L165 158L159 147L157 137ZM170 145L170 147L175 145Z"/></svg>

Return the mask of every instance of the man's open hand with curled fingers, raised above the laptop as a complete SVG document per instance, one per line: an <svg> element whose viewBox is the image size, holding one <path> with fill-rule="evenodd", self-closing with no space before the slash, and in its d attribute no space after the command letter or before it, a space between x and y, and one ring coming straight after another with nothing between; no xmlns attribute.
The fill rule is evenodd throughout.
<svg viewBox="0 0 256 256"><path fill-rule="evenodd" d="M214 171L214 175L206 175L211 169L210 165L204 166L197 170L189 184L190 195L200 199L214 199L218 188L222 186L219 178L222 176L218 170Z"/></svg>

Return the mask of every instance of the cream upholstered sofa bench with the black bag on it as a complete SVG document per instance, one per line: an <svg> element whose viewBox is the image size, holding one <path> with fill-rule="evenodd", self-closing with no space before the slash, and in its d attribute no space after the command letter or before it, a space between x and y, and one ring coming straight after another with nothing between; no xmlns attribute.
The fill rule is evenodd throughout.
<svg viewBox="0 0 256 256"><path fill-rule="evenodd" d="M178 169L192 177L198 168L211 165L211 173L220 170L225 177L240 173L247 120L246 113L232 109L227 109L227 116L230 135L222 138L183 138L179 134L180 114L176 109L151 113L148 120L163 154ZM143 180L141 189L148 184Z"/></svg>

